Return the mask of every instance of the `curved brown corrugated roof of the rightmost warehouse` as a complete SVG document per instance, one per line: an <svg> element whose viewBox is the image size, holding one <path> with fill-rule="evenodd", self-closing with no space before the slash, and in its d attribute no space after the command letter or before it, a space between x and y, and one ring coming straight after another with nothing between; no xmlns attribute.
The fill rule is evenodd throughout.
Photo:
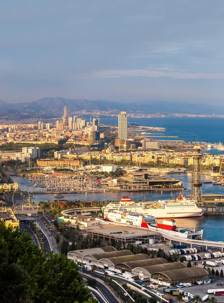
<svg viewBox="0 0 224 303"><path fill-rule="evenodd" d="M157 273L157 272L156 272ZM171 281L176 281L179 279L189 279L189 278L196 278L196 277L203 277L207 276L207 272L205 269L201 267L186 267L182 269L175 269L175 270L167 270L158 273L166 276Z"/></svg>

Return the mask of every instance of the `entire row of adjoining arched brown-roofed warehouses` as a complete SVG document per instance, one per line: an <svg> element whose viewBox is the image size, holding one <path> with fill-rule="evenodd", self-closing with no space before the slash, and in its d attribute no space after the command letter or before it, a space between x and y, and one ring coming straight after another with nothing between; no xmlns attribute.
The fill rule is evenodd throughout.
<svg viewBox="0 0 224 303"><path fill-rule="evenodd" d="M208 277L206 270L200 267L188 268L181 262L168 263L163 258L150 259L146 254L134 255L130 250L116 250L112 246L72 250L68 258L83 264L92 263L118 274L131 273L136 278L164 286L195 283Z"/></svg>

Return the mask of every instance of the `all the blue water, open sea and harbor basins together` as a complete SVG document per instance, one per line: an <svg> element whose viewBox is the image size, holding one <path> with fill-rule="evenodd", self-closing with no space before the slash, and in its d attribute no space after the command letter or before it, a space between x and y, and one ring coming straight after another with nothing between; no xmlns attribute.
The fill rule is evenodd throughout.
<svg viewBox="0 0 224 303"><path fill-rule="evenodd" d="M136 122L141 126L165 127L166 131L163 136L178 136L177 140L185 141L202 141L210 143L224 142L224 119L216 117L164 117L164 118L130 118L128 122ZM118 125L117 118L100 118L101 124ZM161 132L159 132L161 133ZM156 132L155 132L156 135ZM164 139L169 139L162 137ZM159 137L154 138L159 140ZM172 139L172 138L170 138ZM224 151L214 148L203 150L203 152L223 155ZM190 173L171 174L173 178L182 181L187 190L185 195L190 194ZM26 188L34 193L34 202L37 204L40 200L52 200L53 194L35 194L36 187L27 178L13 177L17 180L21 189ZM202 176L202 180L210 180L208 176ZM220 193L224 195L224 186L213 186L212 184L202 185L203 193ZM181 195L182 192L113 192L113 193L74 193L66 194L65 198L74 200L120 200L123 195L128 195L131 199L136 200L157 200L167 199L173 196ZM224 216L205 216L200 218L183 218L177 219L177 226L183 228L191 228L196 230L204 230L204 238L207 240L224 241Z"/></svg>

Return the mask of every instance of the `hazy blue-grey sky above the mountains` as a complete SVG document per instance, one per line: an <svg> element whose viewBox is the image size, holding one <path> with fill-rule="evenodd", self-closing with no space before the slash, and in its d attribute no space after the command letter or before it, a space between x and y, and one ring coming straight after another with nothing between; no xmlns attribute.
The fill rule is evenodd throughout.
<svg viewBox="0 0 224 303"><path fill-rule="evenodd" d="M1 0L0 99L222 105L223 0Z"/></svg>

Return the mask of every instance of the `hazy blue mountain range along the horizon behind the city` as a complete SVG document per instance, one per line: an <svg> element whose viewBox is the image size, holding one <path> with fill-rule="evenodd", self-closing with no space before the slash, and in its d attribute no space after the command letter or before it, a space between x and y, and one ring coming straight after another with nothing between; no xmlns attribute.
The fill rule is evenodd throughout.
<svg viewBox="0 0 224 303"><path fill-rule="evenodd" d="M106 100L66 99L62 97L45 97L29 103L7 103L0 100L0 115L22 115L29 117L60 115L64 106L67 106L68 113L86 111L143 111L145 113L161 114L224 114L224 107L214 107L205 104L176 103L176 102L148 102L144 104L122 104Z"/></svg>

